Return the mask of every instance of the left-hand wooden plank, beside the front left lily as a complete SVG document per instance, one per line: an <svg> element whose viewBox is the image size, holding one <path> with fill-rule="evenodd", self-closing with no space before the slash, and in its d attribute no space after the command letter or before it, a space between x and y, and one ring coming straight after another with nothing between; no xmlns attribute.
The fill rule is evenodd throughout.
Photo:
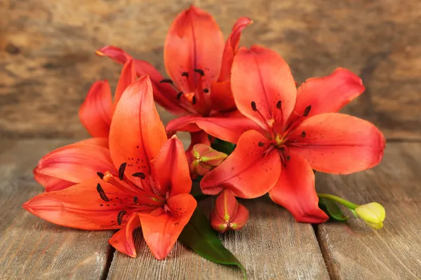
<svg viewBox="0 0 421 280"><path fill-rule="evenodd" d="M32 168L69 141L0 141L0 279L100 279L112 232L47 223L22 209L42 187Z"/></svg>

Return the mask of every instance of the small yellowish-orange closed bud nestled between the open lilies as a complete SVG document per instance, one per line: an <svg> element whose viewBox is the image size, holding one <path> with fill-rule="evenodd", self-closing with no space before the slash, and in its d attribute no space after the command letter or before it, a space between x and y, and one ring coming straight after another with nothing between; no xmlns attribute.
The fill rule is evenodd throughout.
<svg viewBox="0 0 421 280"><path fill-rule="evenodd" d="M194 145L192 155L190 170L192 170L192 173L200 176L207 174L213 167L220 165L228 156L226 153L218 152L204 144Z"/></svg>

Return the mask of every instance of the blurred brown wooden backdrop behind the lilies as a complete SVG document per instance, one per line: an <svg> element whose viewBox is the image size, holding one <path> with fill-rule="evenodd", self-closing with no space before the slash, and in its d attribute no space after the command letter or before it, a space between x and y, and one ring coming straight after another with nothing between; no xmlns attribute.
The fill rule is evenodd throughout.
<svg viewBox="0 0 421 280"><path fill-rule="evenodd" d="M0 0L0 134L86 137L77 110L88 87L107 78L114 88L120 70L93 51L119 45L164 71L166 31L190 3ZM236 18L252 18L243 43L277 50L298 81L351 69L367 90L345 112L388 138L421 139L421 1L194 3L215 16L225 36Z"/></svg>

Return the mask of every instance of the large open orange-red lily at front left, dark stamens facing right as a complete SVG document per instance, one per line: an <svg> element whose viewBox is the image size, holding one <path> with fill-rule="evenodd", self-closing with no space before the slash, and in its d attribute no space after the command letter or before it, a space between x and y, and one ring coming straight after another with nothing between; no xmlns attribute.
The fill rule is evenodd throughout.
<svg viewBox="0 0 421 280"><path fill-rule="evenodd" d="M91 140L93 141L93 140ZM68 152L74 148L74 155ZM88 161L97 168L96 179L36 195L23 207L32 214L58 225L83 230L121 229L109 239L117 250L136 256L132 232L142 228L145 241L155 258L168 255L189 221L196 200L189 195L192 181L181 141L167 140L152 97L149 78L135 81L122 94L112 117L109 149L73 144L55 151L78 163L81 172ZM72 158L73 157L73 158ZM54 161L53 156L50 160ZM67 165L55 165L65 172ZM60 170L60 168L62 170ZM102 174L102 170L107 170Z"/></svg>

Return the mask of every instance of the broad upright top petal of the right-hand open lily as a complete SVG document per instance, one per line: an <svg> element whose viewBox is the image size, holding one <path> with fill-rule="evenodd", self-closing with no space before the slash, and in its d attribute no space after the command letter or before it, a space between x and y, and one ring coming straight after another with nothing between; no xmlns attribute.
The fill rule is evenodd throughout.
<svg viewBox="0 0 421 280"><path fill-rule="evenodd" d="M231 87L237 109L264 129L272 127L268 122L281 127L295 106L297 90L288 64L258 45L237 52Z"/></svg>

